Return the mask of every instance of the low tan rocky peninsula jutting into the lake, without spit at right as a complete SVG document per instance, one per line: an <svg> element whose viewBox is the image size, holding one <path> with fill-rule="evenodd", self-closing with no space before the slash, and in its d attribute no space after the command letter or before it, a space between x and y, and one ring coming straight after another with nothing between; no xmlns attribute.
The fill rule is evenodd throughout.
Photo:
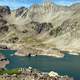
<svg viewBox="0 0 80 80"><path fill-rule="evenodd" d="M37 55L45 55L45 56L53 56L57 58L64 57L64 53L58 49L43 49L43 48L26 48L26 49L18 49L15 52L17 56L37 56Z"/></svg>

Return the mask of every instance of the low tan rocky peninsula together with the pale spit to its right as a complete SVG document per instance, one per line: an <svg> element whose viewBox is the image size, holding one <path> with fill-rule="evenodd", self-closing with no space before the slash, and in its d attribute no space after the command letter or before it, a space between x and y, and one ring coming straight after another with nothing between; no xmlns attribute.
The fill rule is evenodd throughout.
<svg viewBox="0 0 80 80"><path fill-rule="evenodd" d="M33 50L17 50L15 52L15 55L17 56L37 56L37 55L45 55L45 56L53 56L56 58L63 58L65 53L68 53L70 55L75 55L75 56L79 56L79 52L75 52L75 51L65 51L65 50L59 50L59 49L50 49L50 50L39 50L39 49L33 49Z"/></svg>

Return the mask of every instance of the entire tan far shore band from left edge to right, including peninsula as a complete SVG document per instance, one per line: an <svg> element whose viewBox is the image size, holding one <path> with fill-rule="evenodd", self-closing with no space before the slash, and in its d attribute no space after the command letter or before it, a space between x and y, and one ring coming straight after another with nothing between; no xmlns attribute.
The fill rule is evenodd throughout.
<svg viewBox="0 0 80 80"><path fill-rule="evenodd" d="M80 55L78 50L73 49L58 49L58 48L48 48L48 47L32 47L26 44L9 44L3 43L8 50L16 50L15 55L17 56L36 56L36 55L46 55L53 56L57 58L64 57L65 53L70 55ZM3 48L3 50L5 50Z"/></svg>

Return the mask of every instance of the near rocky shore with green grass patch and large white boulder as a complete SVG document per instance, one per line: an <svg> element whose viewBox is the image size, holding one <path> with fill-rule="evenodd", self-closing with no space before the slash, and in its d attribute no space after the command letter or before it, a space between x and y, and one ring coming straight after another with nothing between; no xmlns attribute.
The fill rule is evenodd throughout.
<svg viewBox="0 0 80 80"><path fill-rule="evenodd" d="M60 76L54 71L45 73L32 69L32 67L19 68L5 72L5 74L0 74L0 80L74 80L68 76Z"/></svg>

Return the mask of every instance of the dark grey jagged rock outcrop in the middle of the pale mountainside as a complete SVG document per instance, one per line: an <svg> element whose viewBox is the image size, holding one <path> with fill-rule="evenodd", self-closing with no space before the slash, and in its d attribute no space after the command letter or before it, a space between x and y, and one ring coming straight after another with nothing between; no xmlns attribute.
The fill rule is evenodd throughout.
<svg viewBox="0 0 80 80"><path fill-rule="evenodd" d="M50 28L53 27L52 23L39 23L39 22L30 22L29 24L27 24L26 26L30 25L29 27L31 27L33 30L35 30L38 34L40 34L41 32L47 32L50 30Z"/></svg>

